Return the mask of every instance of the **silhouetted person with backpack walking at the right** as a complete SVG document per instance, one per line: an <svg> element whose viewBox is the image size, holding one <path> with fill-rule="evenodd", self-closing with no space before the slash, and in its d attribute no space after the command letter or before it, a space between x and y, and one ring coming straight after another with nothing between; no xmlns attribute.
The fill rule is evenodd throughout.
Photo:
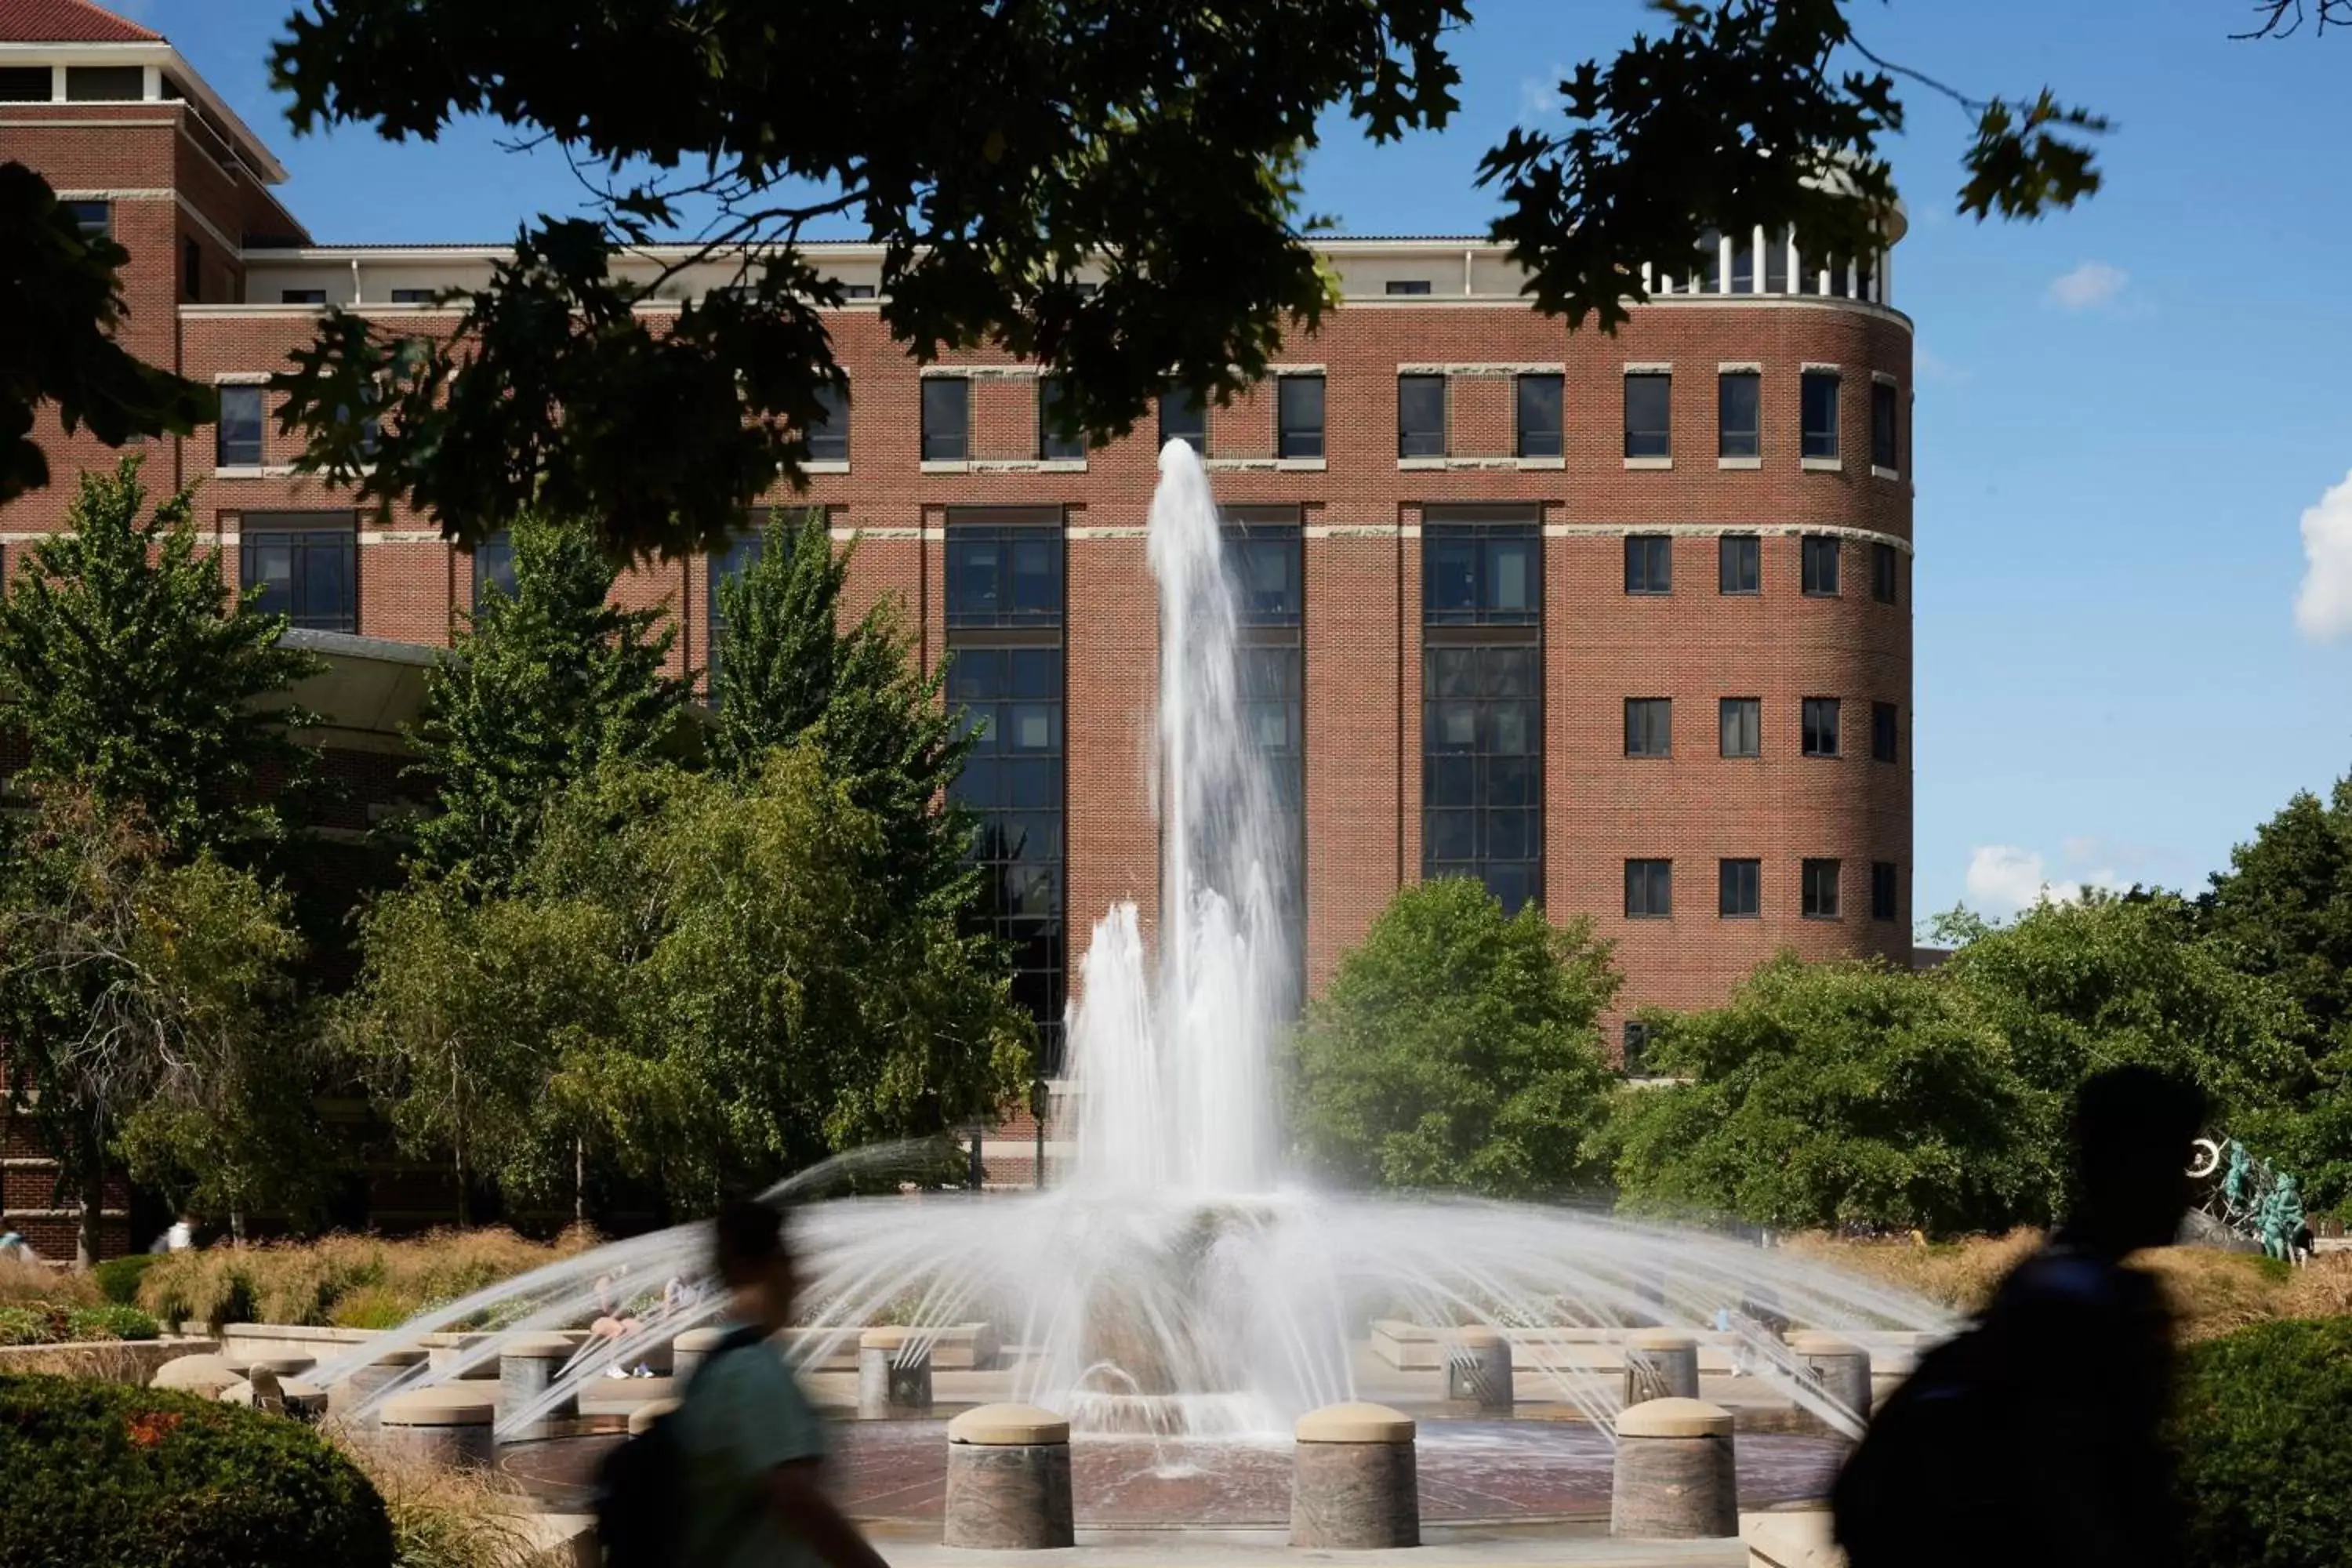
<svg viewBox="0 0 2352 1568"><path fill-rule="evenodd" d="M2065 1225L1919 1359L1837 1479L1851 1568L2180 1566L2171 1321L2122 1262L2178 1237L2201 1119L2197 1088L2147 1067L2082 1086Z"/></svg>

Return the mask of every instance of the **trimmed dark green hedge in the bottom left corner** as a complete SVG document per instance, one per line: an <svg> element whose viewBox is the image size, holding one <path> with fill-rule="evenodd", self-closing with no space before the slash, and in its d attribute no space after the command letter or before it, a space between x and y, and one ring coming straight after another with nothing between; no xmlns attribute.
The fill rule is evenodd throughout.
<svg viewBox="0 0 2352 1568"><path fill-rule="evenodd" d="M0 1378L0 1568L390 1568L383 1500L318 1432L191 1394Z"/></svg>

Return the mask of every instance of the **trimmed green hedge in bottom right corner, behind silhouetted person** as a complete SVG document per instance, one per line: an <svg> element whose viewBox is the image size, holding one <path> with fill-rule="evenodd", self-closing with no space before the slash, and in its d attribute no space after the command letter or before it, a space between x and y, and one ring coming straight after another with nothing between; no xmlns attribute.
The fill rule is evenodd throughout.
<svg viewBox="0 0 2352 1568"><path fill-rule="evenodd" d="M2173 1422L2199 1568L2352 1568L2352 1319L2187 1352Z"/></svg>

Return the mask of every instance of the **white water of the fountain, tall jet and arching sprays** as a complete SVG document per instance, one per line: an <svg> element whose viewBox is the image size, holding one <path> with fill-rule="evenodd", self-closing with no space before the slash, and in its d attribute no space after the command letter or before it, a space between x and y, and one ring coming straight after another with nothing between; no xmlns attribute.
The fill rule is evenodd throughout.
<svg viewBox="0 0 2352 1568"><path fill-rule="evenodd" d="M1531 1436L1510 1429L1538 1422L1461 1422L1451 1436L1437 1422L1425 1453L1435 1448L1442 1469L1451 1443L1477 1474L1522 1467L1538 1441L1604 1472L1616 1373L1590 1371L1578 1333L1712 1331L1719 1312L1759 1300L1795 1324L1851 1335L1945 1328L1926 1302L1733 1239L1564 1208L1315 1192L1287 1173L1272 1063L1291 954L1268 893L1282 846L1242 726L1235 585L1200 458L1171 442L1160 473L1150 517L1162 625L1157 961L1134 905L1096 924L1070 1020L1073 1154L1049 1187L800 1208L807 1298L821 1324L802 1354L854 1345L866 1324L901 1324L924 1352L955 1324L990 1321L1014 1347L1016 1399L1065 1413L1098 1443L1143 1439L1155 1474L1240 1474L1258 1462L1249 1455L1279 1446L1298 1413L1357 1394L1371 1324L1437 1328L1439 1345L1451 1326L1496 1326L1522 1331L1522 1373L1583 1420ZM804 1173L779 1197L821 1190L828 1175ZM515 1333L576 1326L595 1312L597 1279L626 1269L647 1284L696 1281L703 1246L701 1227L677 1227L597 1248L428 1314L318 1378L332 1382L390 1342L485 1314ZM689 1291L628 1340L583 1354L532 1408L501 1410L501 1432L532 1429L607 1361L626 1366L713 1321L720 1305L717 1291ZM485 1366L496 1342L487 1335L376 1399ZM1795 1406L1856 1432L1778 1333L1752 1331L1743 1352ZM936 1446L936 1434L901 1441L917 1436ZM1084 1460L1080 1486L1084 1521Z"/></svg>

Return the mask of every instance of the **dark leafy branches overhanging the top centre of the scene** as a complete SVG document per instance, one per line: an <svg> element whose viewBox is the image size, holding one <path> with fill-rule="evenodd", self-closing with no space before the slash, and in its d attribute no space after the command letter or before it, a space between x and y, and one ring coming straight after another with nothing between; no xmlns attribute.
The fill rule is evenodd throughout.
<svg viewBox="0 0 2352 1568"><path fill-rule="evenodd" d="M1639 266L1705 228L1795 221L1816 254L1860 254L1891 197L1896 75L1926 82L1870 54L1846 0L1661 9L1665 38L1564 82L1564 129L1486 160L1496 235L1571 322L1611 324ZM884 247L882 322L917 357L1037 360L1096 437L1171 367L1225 397L1331 306L1303 155L1350 122L1376 141L1444 125L1446 33L1468 19L1465 0L842 0L790 26L706 0L320 0L270 56L299 132L430 139L489 115L609 181L590 216L522 230L452 341L329 310L280 383L282 423L306 470L452 536L546 505L593 517L612 552L717 548L779 473L802 477L840 386L837 284L802 237L842 221ZM1950 96L1976 120L1964 212L2037 216L2096 188L2093 115ZM656 277L614 275L656 242L677 242ZM713 261L736 287L637 310Z"/></svg>

